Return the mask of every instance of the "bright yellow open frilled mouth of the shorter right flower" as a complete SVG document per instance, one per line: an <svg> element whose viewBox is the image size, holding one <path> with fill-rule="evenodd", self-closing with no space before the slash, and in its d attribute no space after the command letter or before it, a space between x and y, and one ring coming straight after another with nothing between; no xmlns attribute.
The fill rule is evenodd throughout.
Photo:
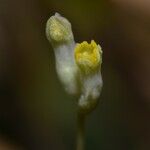
<svg viewBox="0 0 150 150"><path fill-rule="evenodd" d="M96 71L102 63L102 50L94 40L89 44L84 41L75 47L75 61L79 68L86 74Z"/></svg>

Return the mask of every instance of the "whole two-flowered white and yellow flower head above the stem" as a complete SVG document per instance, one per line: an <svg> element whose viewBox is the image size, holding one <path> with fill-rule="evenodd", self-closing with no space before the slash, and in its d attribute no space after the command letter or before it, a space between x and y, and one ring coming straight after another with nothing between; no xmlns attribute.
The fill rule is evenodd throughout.
<svg viewBox="0 0 150 150"><path fill-rule="evenodd" d="M71 23L56 13L46 24L46 36L52 44L56 70L69 94L80 94L79 110L92 111L98 102L102 88L102 50L94 40L76 44Z"/></svg>

